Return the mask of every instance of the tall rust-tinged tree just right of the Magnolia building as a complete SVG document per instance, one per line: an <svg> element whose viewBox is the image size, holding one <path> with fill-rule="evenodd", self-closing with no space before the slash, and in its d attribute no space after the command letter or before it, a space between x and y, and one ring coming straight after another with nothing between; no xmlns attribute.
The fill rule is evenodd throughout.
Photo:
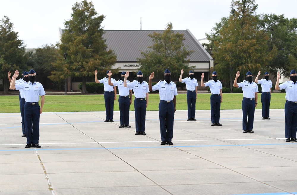
<svg viewBox="0 0 297 195"><path fill-rule="evenodd" d="M267 33L257 28L257 7L255 0L232 1L228 21L222 21L222 28L212 39L215 70L222 80L230 82L231 92L232 75L238 70L242 73L241 79L247 71L256 74L262 68L268 67L276 54L275 48L268 50ZM229 74L226 74L227 72Z"/></svg>

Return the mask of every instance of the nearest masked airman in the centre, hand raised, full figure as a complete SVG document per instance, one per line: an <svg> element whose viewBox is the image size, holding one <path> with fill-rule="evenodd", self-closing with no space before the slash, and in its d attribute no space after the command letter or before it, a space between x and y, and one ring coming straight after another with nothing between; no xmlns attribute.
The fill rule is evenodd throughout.
<svg viewBox="0 0 297 195"><path fill-rule="evenodd" d="M149 91L159 90L159 120L161 131L161 145L172 145L173 138L173 120L176 111L176 84L171 81L171 72L166 69L164 72L165 80L160 80L152 86L151 80L154 78L154 72L149 76Z"/></svg>

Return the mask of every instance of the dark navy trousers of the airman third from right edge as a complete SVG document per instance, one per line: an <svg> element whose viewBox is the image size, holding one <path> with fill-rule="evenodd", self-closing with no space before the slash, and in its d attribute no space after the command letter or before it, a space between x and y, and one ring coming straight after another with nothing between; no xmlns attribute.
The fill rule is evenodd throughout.
<svg viewBox="0 0 297 195"><path fill-rule="evenodd" d="M242 100L242 129L253 130L255 115L255 98Z"/></svg>

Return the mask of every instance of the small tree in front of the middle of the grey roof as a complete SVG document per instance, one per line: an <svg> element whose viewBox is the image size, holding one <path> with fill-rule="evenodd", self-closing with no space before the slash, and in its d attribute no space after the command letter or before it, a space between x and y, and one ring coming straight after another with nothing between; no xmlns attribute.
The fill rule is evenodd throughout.
<svg viewBox="0 0 297 195"><path fill-rule="evenodd" d="M171 72L171 80L178 80L181 69L188 71L188 57L194 52L184 45L184 34L174 33L172 23L168 23L163 33L149 34L153 45L149 50L141 51L142 58L138 59L140 70L144 75L150 75L152 71L156 78L163 78L164 71L168 68Z"/></svg>

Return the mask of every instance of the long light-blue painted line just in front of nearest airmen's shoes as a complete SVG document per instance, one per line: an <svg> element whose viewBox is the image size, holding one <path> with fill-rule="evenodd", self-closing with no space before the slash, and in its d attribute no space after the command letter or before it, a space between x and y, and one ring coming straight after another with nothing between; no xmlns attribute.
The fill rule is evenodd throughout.
<svg viewBox="0 0 297 195"><path fill-rule="evenodd" d="M46 145L46 144L45 144ZM222 147L222 146L272 146L272 145L293 145L293 143L285 144L240 144L240 145L207 145L207 146L149 146L149 147L116 147L116 148L55 148L55 149L36 149L36 150L102 150L102 149L148 149L148 148L181 148L181 147ZM29 149L35 150L35 149ZM28 151L28 149L0 150L5 151Z"/></svg>

